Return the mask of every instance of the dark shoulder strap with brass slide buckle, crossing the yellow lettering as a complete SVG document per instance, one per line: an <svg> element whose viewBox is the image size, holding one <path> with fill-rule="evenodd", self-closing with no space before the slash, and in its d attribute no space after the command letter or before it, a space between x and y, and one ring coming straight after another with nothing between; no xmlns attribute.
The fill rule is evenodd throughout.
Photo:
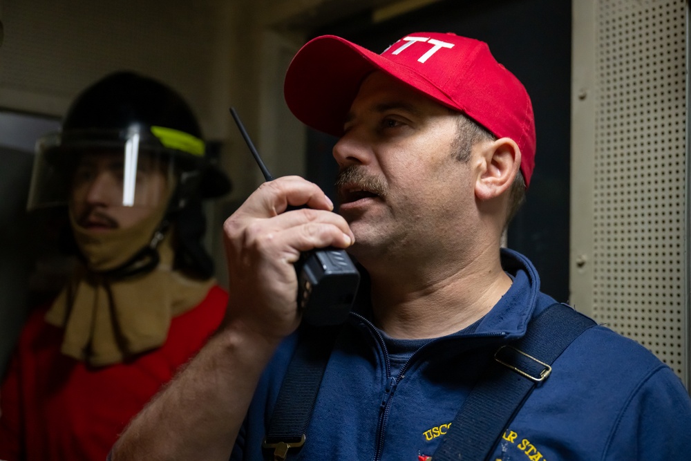
<svg viewBox="0 0 691 461"><path fill-rule="evenodd" d="M533 389L549 377L553 361L594 325L564 304L533 319L524 337L495 353L432 459L485 460Z"/></svg>

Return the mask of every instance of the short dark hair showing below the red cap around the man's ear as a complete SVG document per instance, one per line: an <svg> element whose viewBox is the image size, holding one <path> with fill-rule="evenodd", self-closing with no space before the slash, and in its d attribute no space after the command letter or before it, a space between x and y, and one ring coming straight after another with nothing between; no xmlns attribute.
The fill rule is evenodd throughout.
<svg viewBox="0 0 691 461"><path fill-rule="evenodd" d="M457 133L451 145L451 149L455 152L454 156L456 160L467 162L471 158L471 151L475 144L482 141L497 140L495 135L490 133L481 124L475 122L475 120L462 113L453 111L452 109L449 109L449 111L457 115ZM525 191L526 185L523 173L518 171L518 174L511 183L511 189L509 189L509 207L507 207L507 217L504 221L504 229L506 229L513 219L513 216L515 216L518 209L523 205L525 201Z"/></svg>

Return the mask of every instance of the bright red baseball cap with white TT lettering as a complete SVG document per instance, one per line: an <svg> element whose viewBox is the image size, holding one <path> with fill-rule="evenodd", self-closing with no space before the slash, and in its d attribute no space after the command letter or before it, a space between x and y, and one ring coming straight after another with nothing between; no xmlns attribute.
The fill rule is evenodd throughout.
<svg viewBox="0 0 691 461"><path fill-rule="evenodd" d="M524 86L494 59L483 41L453 33L415 32L377 55L341 37L316 37L288 67L285 101L307 126L340 136L360 84L374 70L468 115L498 138L513 139L529 185L536 148L533 106Z"/></svg>

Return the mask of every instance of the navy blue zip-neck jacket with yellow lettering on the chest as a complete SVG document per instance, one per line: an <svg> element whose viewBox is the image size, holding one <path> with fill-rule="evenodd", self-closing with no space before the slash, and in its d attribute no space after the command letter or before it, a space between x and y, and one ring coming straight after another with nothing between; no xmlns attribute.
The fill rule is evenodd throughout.
<svg viewBox="0 0 691 461"><path fill-rule="evenodd" d="M403 341L403 359L389 350L401 341L352 313L325 370L305 445L288 459L428 460L493 352L522 337L529 319L555 302L540 292L527 258L502 250L502 266L513 285L491 312L453 335L407 347ZM261 444L295 344L296 335L287 338L265 370L231 460L271 459ZM489 459L691 459L691 400L651 352L595 326L554 362Z"/></svg>

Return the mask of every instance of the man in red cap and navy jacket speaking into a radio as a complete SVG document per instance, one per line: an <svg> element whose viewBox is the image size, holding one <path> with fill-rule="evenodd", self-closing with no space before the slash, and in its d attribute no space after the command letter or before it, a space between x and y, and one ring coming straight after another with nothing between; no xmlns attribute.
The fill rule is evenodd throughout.
<svg viewBox="0 0 691 461"><path fill-rule="evenodd" d="M288 177L228 218L225 323L113 460L688 457L691 402L672 370L558 305L527 258L500 249L536 136L529 96L486 44L419 32L377 55L318 37L294 57L285 99L340 137L339 214ZM319 392L298 386L284 411L285 375L323 346L299 328L293 264L328 246L357 258L363 282ZM553 312L569 321L545 321ZM272 439L314 397L303 436Z"/></svg>

